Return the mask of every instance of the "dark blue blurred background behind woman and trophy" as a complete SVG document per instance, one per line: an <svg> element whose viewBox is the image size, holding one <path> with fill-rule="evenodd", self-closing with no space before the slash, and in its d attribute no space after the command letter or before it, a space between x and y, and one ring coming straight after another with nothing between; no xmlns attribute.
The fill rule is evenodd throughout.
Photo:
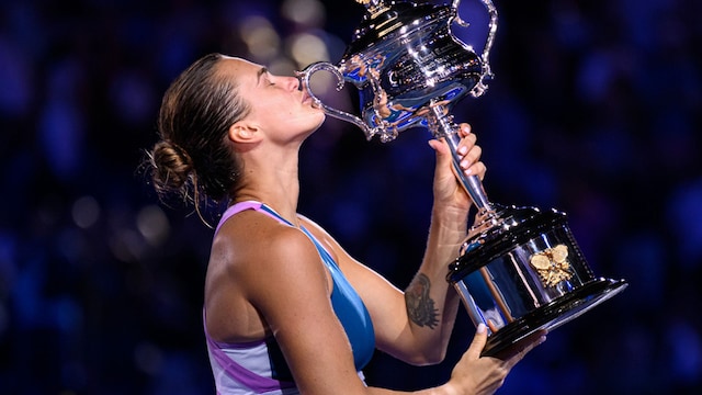
<svg viewBox="0 0 702 395"><path fill-rule="evenodd" d="M553 331L499 394L702 390L702 2L496 0L495 80L460 102L494 202L556 207L598 275L630 286ZM487 14L456 33L482 50ZM4 0L0 4L0 393L213 394L202 332L212 229L138 171L160 98L219 52L291 74L338 61L352 0ZM353 109L349 89L330 103ZM433 151L328 120L299 211L405 287L424 247ZM216 213L208 213L211 222ZM265 275L265 273L261 273ZM377 353L372 385L445 382Z"/></svg>

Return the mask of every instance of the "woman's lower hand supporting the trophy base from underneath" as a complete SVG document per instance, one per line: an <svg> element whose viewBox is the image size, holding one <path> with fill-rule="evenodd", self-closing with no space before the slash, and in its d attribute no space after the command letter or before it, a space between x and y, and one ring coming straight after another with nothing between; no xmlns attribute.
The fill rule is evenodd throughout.
<svg viewBox="0 0 702 395"><path fill-rule="evenodd" d="M444 384L446 393L452 395L495 393L502 386L517 362L545 339L545 331L536 332L528 341L520 342L518 346L522 347L520 350L516 350L506 358L480 357L487 342L487 328L480 324L471 347L454 366L449 383Z"/></svg>

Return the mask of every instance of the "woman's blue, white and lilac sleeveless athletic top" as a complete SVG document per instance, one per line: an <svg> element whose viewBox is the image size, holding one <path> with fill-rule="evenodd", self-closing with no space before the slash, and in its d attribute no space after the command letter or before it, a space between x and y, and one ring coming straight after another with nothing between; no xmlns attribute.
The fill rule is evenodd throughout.
<svg viewBox="0 0 702 395"><path fill-rule="evenodd" d="M219 219L215 235L229 217L245 210L256 210L293 226L265 204L247 201L227 208ZM375 349L375 334L371 316L331 255L307 229L301 228L315 244L321 260L331 273L333 282L331 305L347 332L353 351L355 369L363 380L361 370L369 363ZM203 321L204 317L203 308ZM205 338L217 394L298 394L293 375L274 337L245 343L223 343L214 341L210 337L205 325Z"/></svg>

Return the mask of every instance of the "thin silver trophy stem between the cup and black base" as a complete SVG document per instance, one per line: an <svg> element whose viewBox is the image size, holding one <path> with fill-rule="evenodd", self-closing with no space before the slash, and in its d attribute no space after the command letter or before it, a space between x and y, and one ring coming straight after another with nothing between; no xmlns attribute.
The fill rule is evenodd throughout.
<svg viewBox="0 0 702 395"><path fill-rule="evenodd" d="M429 124L429 131L435 138L444 138L451 148L451 156L453 157L453 166L455 168L455 176L461 182L461 185L465 189L473 200L473 203L478 208L478 214L485 212L494 212L492 204L487 199L487 193L483 187L483 182L477 176L466 176L461 170L461 159L457 153L458 143L461 143L461 136L458 136L458 125L456 125L451 115L446 114L445 106L435 104L430 105L429 116L427 116Z"/></svg>

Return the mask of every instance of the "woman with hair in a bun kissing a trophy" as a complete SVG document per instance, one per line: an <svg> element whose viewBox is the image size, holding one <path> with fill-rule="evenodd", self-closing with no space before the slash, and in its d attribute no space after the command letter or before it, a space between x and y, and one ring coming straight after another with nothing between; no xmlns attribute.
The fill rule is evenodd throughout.
<svg viewBox="0 0 702 395"><path fill-rule="evenodd" d="M219 394L393 394L367 387L375 348L407 363L440 362L458 308L444 280L466 237L471 202L437 151L427 252L406 292L351 258L296 212L298 150L325 120L293 77L213 54L165 94L150 156L161 194L229 202L215 230L205 280L204 326ZM480 177L480 148L461 126L462 170ZM203 195L204 194L204 195ZM423 394L495 392L517 361L480 358L486 329L451 380Z"/></svg>

